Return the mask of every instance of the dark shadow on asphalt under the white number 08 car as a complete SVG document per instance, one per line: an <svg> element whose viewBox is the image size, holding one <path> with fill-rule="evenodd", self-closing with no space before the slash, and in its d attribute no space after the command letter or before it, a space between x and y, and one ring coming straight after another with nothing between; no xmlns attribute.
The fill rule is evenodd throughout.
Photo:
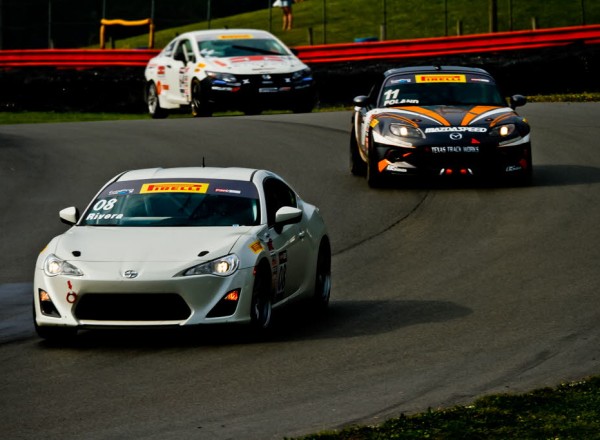
<svg viewBox="0 0 600 440"><path fill-rule="evenodd" d="M248 326L239 324L85 330L67 342L41 340L39 345L44 348L75 350L157 350L344 339L389 333L417 324L459 319L471 313L471 309L448 301L341 300L332 301L329 308L321 313L316 313L308 304L278 310L267 331L250 331Z"/></svg>

